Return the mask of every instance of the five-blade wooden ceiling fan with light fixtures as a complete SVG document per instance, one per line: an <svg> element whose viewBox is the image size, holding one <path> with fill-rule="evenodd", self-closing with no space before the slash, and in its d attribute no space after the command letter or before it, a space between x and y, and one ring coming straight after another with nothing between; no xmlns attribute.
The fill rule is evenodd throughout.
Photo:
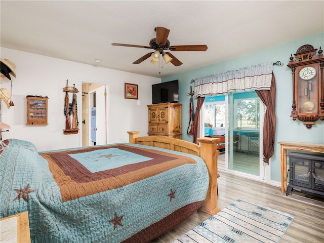
<svg viewBox="0 0 324 243"><path fill-rule="evenodd" d="M139 47L139 48L147 48L153 49L154 52L147 53L146 55L142 56L141 58L137 59L133 64L139 64L146 60L147 58L151 57L152 60L150 61L152 64L157 65L160 59L160 55L163 56L166 64L171 62L175 66L180 66L182 62L173 56L170 52L165 52L165 50L169 51L200 51L204 52L207 50L206 45L186 45L186 46L170 46L170 41L168 39L168 35L170 29L165 27L155 27L156 38L152 38L148 46L139 46L139 45L130 45L130 44L121 44L121 43L112 43L112 46L120 46L120 47Z"/></svg>

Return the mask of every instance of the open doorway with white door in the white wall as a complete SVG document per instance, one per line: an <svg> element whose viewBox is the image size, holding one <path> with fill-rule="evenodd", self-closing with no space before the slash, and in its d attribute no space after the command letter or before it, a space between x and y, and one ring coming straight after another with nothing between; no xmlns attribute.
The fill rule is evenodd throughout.
<svg viewBox="0 0 324 243"><path fill-rule="evenodd" d="M108 143L108 86L82 84L82 146Z"/></svg>

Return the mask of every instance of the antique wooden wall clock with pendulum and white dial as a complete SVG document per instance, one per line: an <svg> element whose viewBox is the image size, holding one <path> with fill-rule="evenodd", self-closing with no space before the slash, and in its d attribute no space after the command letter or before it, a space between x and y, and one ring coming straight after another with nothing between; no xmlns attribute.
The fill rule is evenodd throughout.
<svg viewBox="0 0 324 243"><path fill-rule="evenodd" d="M287 66L293 72L293 104L291 117L303 121L310 129L315 121L324 120L324 86L322 49L311 45L298 48L295 58L291 54Z"/></svg>

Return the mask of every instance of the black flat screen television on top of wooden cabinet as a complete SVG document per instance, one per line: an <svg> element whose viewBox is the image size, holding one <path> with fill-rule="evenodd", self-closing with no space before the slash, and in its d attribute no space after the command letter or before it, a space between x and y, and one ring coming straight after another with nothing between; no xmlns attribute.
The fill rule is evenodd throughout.
<svg viewBox="0 0 324 243"><path fill-rule="evenodd" d="M178 80L152 85L152 103L158 104L166 102L179 102Z"/></svg>

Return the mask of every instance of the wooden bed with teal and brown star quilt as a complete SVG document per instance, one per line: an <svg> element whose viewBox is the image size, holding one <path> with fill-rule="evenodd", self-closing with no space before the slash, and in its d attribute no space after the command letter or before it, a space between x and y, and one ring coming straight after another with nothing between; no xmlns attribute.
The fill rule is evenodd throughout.
<svg viewBox="0 0 324 243"><path fill-rule="evenodd" d="M129 143L42 152L5 140L0 218L28 211L32 242L148 242L198 209L220 211L218 139L128 133Z"/></svg>

